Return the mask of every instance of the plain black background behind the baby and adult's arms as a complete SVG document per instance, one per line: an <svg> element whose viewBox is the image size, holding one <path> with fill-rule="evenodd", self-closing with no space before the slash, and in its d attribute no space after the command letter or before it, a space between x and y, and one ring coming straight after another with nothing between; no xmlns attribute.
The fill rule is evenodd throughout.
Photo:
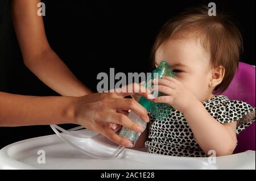
<svg viewBox="0 0 256 181"><path fill-rule="evenodd" d="M3 0L0 0L3 1ZM42 1L52 49L72 72L96 91L100 72L150 71L150 50L160 27L185 8L215 2L233 16L243 36L242 62L255 65L255 1ZM2 3L0 3L0 6ZM57 95L24 66L9 7L0 24L0 91ZM52 134L49 126L0 128L0 148Z"/></svg>

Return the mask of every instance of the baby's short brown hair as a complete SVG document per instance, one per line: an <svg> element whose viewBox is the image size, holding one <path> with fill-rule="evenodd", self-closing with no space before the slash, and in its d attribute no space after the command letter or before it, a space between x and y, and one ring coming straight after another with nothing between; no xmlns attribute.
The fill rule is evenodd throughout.
<svg viewBox="0 0 256 181"><path fill-rule="evenodd" d="M223 13L208 15L208 7L189 9L164 24L152 48L152 65L155 65L156 50L168 39L199 38L201 45L210 55L213 68L225 69L222 82L214 93L225 91L237 71L243 50L242 36L235 24Z"/></svg>

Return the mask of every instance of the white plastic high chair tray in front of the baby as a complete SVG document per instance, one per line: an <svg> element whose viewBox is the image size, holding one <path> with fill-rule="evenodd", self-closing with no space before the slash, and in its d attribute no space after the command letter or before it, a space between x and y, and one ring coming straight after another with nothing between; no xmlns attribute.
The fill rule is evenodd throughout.
<svg viewBox="0 0 256 181"><path fill-rule="evenodd" d="M89 150L93 146L98 154L112 153L116 149L102 140L81 140L81 144ZM45 152L45 163L38 163L39 150ZM172 157L132 149L123 150L114 159L96 159L53 134L2 148L0 169L255 169L255 151L217 157L216 163L209 163L209 158Z"/></svg>

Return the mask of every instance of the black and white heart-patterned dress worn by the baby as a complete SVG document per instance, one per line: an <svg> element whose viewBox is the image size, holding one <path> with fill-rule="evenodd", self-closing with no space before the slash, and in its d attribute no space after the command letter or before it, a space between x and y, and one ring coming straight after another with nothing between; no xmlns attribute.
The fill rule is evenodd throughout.
<svg viewBox="0 0 256 181"><path fill-rule="evenodd" d="M229 100L224 95L215 95L202 103L218 122L237 121L237 134L255 120L254 107L242 101ZM149 153L183 157L207 156L197 144L183 113L173 109L170 115L161 120L149 114L150 132L145 142Z"/></svg>

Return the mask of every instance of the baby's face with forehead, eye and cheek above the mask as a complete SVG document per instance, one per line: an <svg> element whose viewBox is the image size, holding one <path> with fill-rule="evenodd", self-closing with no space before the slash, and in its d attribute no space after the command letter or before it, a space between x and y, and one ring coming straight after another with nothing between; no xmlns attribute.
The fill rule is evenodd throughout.
<svg viewBox="0 0 256 181"><path fill-rule="evenodd" d="M174 77L204 101L212 93L209 86L212 77L210 56L195 39L168 40L156 51L156 66L165 60L171 66Z"/></svg>

